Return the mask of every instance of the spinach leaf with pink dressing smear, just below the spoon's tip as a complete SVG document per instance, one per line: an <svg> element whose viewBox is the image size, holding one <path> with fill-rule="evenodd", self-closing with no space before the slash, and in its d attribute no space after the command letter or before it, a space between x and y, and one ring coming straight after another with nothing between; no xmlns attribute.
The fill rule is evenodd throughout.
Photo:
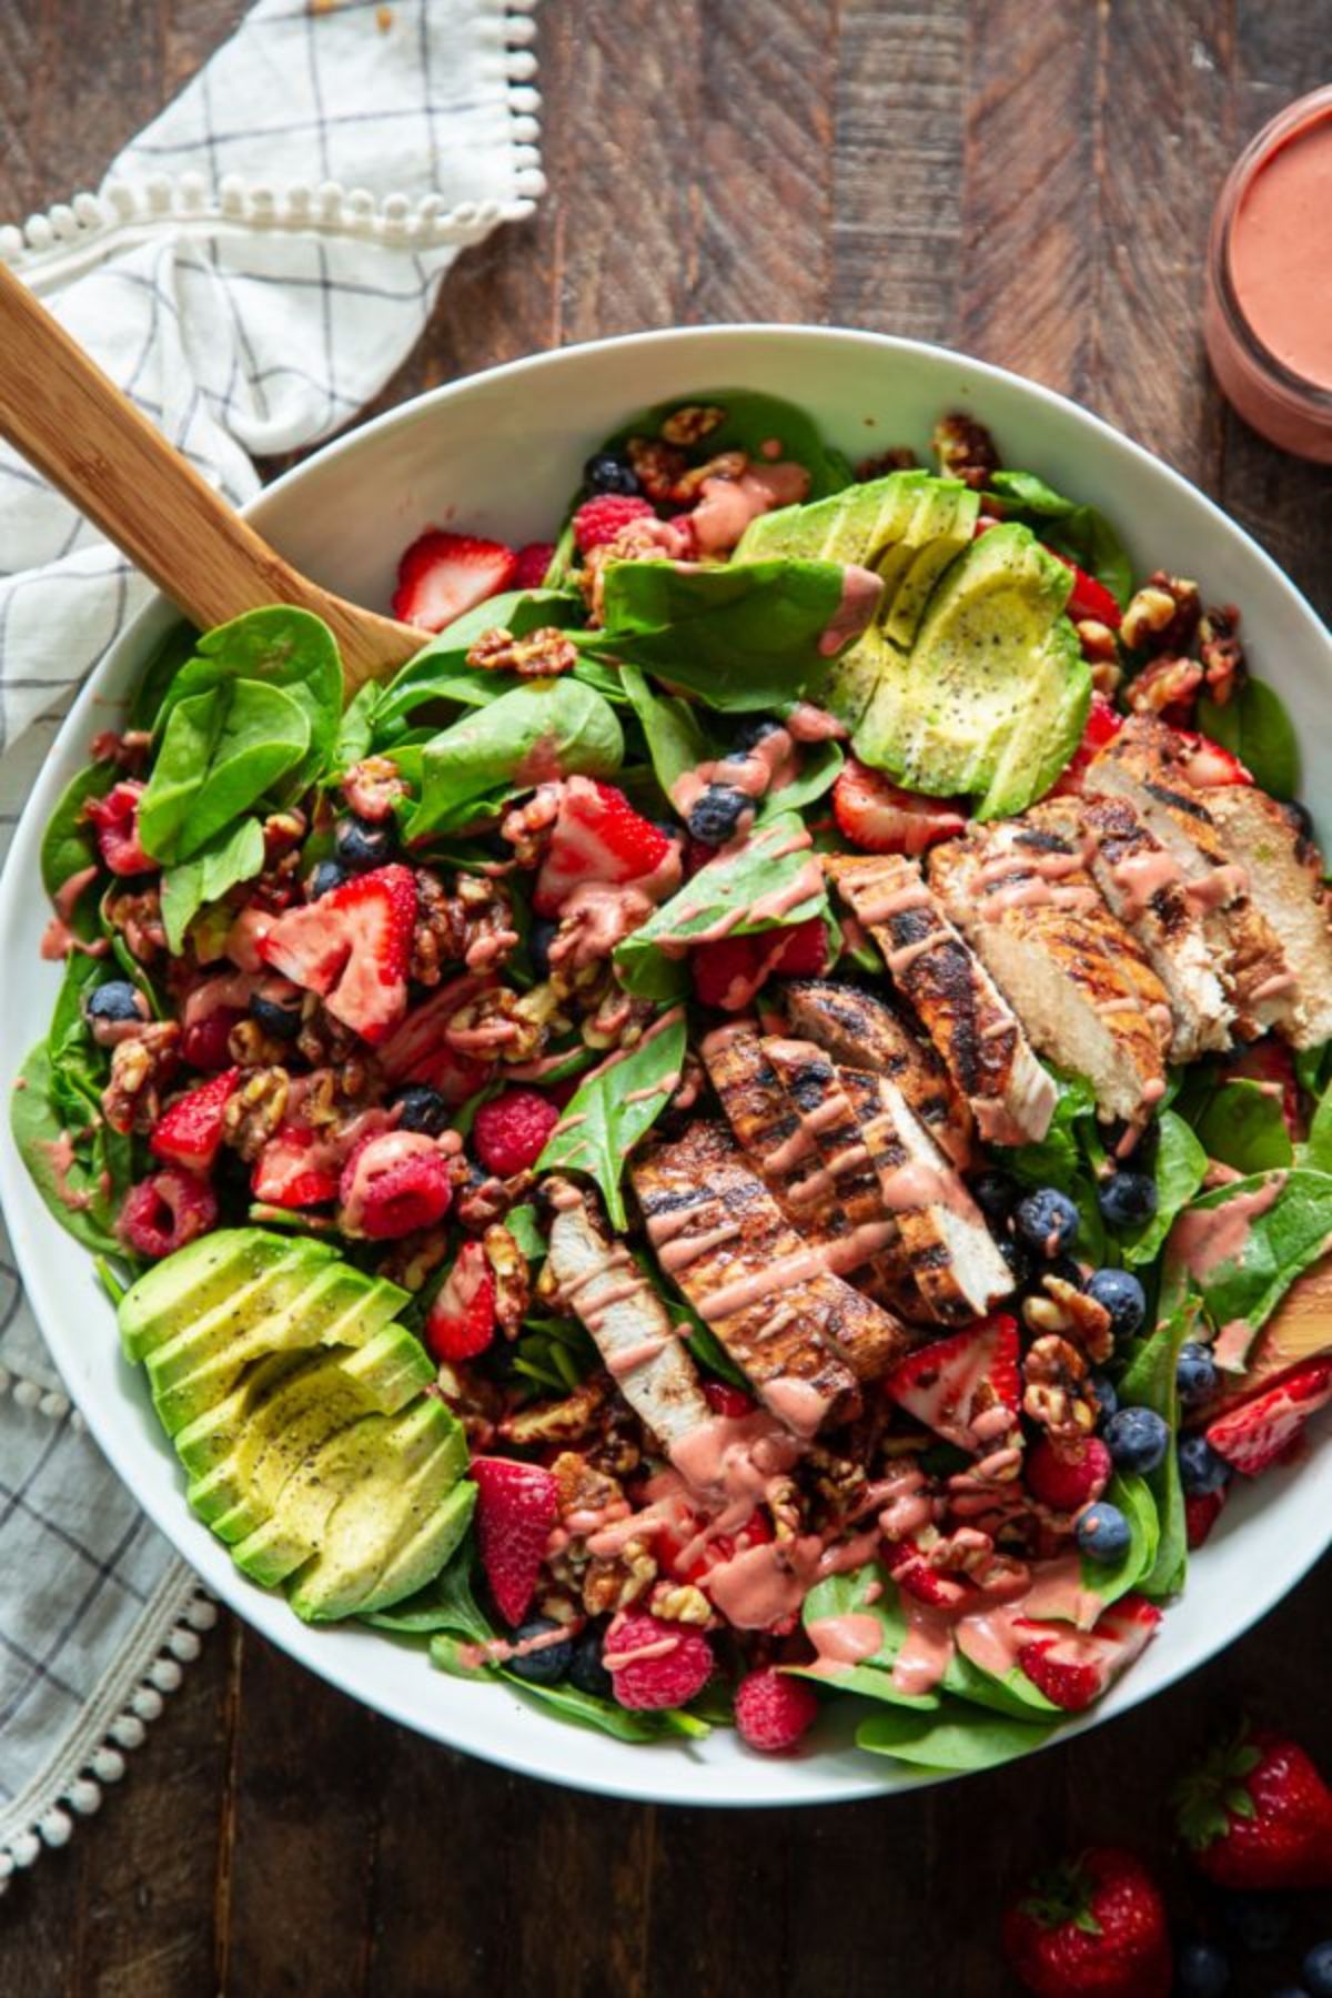
<svg viewBox="0 0 1332 1998"><path fill-rule="evenodd" d="M609 777L625 755L615 709L577 679L533 679L477 707L421 751L421 801L407 837L459 825L499 785Z"/></svg>

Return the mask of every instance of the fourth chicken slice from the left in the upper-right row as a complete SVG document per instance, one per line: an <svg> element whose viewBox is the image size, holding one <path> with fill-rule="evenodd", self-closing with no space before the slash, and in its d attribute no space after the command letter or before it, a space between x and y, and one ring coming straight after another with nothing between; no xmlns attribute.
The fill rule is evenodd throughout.
<svg viewBox="0 0 1332 1998"><path fill-rule="evenodd" d="M1210 803L1218 791L1188 781L1192 743L1150 715L1134 715L1092 757L1084 789L1126 797L1178 867L1178 879L1204 925L1226 981L1236 1031L1244 1039L1278 1027L1304 1031L1292 967L1282 939L1254 907L1248 869L1226 851Z"/></svg>

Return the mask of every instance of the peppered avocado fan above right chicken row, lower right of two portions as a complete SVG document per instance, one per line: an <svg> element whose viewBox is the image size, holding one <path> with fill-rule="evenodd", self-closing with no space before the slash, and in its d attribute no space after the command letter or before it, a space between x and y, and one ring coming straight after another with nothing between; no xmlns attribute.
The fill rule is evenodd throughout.
<svg viewBox="0 0 1332 1998"><path fill-rule="evenodd" d="M1090 669L1062 615L1072 575L1028 527L991 527L939 579L901 673L855 735L865 763L931 795L1020 811L1076 749Z"/></svg>

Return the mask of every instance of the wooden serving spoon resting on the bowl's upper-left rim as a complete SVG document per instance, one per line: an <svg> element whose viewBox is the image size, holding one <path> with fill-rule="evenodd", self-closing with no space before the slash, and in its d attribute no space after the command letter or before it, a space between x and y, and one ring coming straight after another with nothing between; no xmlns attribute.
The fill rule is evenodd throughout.
<svg viewBox="0 0 1332 1998"><path fill-rule="evenodd" d="M264 603L316 611L337 639L347 693L429 637L284 561L2 264L0 436L204 631Z"/></svg>

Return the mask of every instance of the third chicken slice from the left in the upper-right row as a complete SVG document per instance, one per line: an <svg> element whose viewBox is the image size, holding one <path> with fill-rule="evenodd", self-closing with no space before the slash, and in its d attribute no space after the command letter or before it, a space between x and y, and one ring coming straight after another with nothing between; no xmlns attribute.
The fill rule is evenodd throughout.
<svg viewBox="0 0 1332 1998"><path fill-rule="evenodd" d="M1184 893L1174 859L1126 797L1082 797L1076 821L1096 887L1146 949L1170 995L1172 1059L1196 1061L1230 1047L1234 1007L1212 961L1202 911Z"/></svg>

